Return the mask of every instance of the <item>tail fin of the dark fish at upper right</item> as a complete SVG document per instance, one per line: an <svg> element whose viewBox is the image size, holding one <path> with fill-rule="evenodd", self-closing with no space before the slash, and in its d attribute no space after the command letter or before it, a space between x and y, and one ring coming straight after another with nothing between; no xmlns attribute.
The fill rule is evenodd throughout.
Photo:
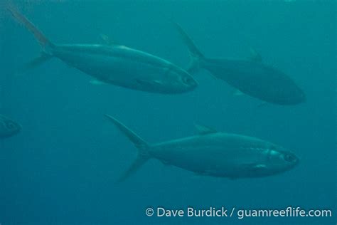
<svg viewBox="0 0 337 225"><path fill-rule="evenodd" d="M181 28L181 26L173 22L174 26L176 26L176 29L181 35L181 38L183 38L183 43L186 44L188 48L188 52L191 56L191 62L188 68L186 69L189 73L196 72L200 68L200 60L203 60L205 57L203 56L203 53L199 51L196 44L192 41L192 39L188 36L188 34Z"/></svg>

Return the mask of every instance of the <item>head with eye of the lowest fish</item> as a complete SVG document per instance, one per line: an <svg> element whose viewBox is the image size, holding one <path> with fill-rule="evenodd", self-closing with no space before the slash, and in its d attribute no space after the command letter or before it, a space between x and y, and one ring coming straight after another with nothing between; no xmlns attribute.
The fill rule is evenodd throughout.
<svg viewBox="0 0 337 225"><path fill-rule="evenodd" d="M284 172L299 164L299 157L283 147L272 145L267 153L267 167L272 173Z"/></svg>

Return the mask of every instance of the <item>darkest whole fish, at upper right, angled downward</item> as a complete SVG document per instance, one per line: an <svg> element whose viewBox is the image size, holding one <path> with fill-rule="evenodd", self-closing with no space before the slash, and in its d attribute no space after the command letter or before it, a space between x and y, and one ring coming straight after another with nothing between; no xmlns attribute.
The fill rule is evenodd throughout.
<svg viewBox="0 0 337 225"><path fill-rule="evenodd" d="M250 59L206 58L183 28L174 24L191 55L188 72L203 68L241 93L267 103L296 105L306 100L306 95L294 80L277 68L262 63L262 57L255 51Z"/></svg>

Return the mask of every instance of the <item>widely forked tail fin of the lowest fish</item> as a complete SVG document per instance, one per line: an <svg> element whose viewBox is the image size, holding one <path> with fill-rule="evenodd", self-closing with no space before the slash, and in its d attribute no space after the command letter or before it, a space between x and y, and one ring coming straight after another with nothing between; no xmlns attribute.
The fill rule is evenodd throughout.
<svg viewBox="0 0 337 225"><path fill-rule="evenodd" d="M141 139L141 137L135 134L132 130L130 130L127 126L123 125L122 122L119 122L116 118L112 117L111 115L105 116L118 128L118 130L120 130L125 136L127 136L127 138L129 138L129 140L138 149L138 155L137 158L134 160L134 163L118 180L119 182L122 182L130 177L132 174L137 172L137 170L150 158L150 145L143 139Z"/></svg>

